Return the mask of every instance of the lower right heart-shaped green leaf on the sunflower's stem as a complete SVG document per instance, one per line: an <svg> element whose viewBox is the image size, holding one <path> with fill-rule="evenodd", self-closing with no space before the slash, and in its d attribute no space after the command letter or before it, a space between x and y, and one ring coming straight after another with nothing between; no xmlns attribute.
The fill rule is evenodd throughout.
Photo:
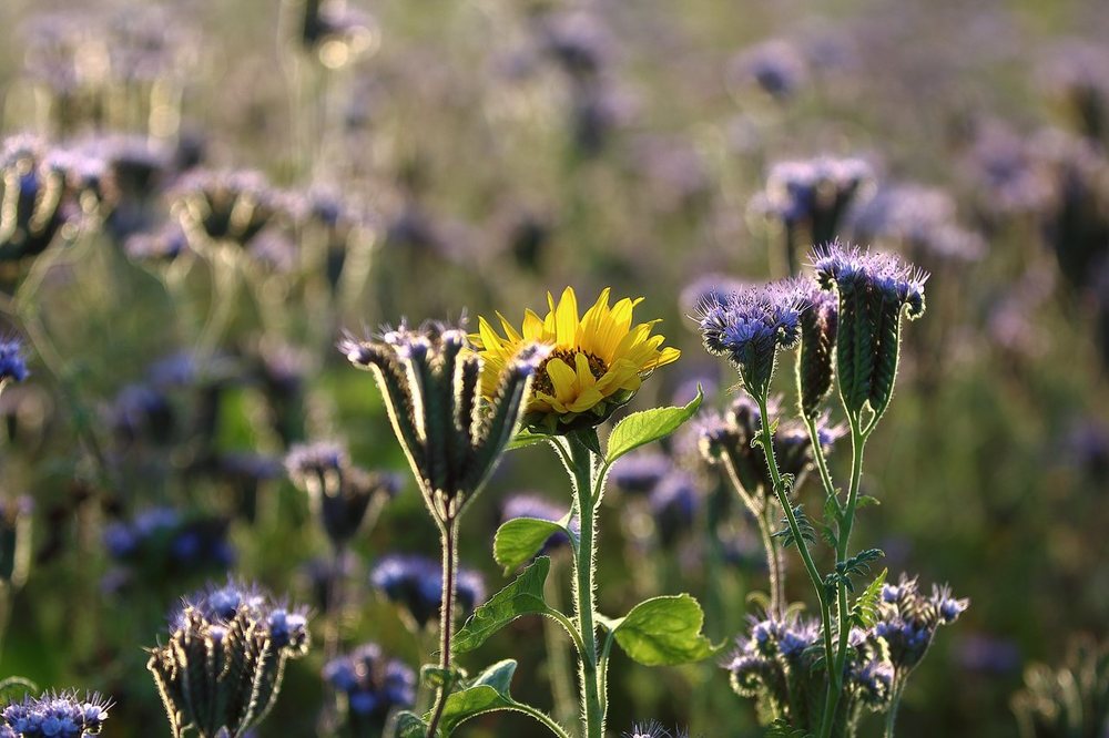
<svg viewBox="0 0 1109 738"><path fill-rule="evenodd" d="M701 635L704 613L688 594L652 597L614 621L617 643L644 666L690 664L720 650Z"/></svg>

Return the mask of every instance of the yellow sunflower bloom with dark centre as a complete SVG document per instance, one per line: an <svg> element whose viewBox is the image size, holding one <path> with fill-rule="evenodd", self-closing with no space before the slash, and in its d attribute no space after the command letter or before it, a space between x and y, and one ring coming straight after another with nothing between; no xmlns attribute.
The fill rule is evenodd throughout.
<svg viewBox="0 0 1109 738"><path fill-rule="evenodd" d="M681 356L675 348L662 348L665 337L651 335L658 320L632 326L632 310L643 298L624 298L609 307L609 294L604 288L579 318L572 287L562 291L558 305L548 293L547 317L527 310L521 331L498 312L503 337L479 318L472 340L485 359L482 393L492 394L506 362L522 345L547 344L551 352L536 372L525 424L562 433L603 422L635 394L655 367Z"/></svg>

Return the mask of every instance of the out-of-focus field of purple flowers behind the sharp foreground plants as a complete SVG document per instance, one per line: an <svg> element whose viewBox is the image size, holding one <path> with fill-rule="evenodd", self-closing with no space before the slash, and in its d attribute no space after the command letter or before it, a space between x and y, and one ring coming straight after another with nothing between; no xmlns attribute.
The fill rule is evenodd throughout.
<svg viewBox="0 0 1109 738"><path fill-rule="evenodd" d="M334 349L344 328L519 322L547 290L591 303L612 286L684 352L633 409L698 382L719 408L736 378L699 346L698 297L785 276L834 237L933 274L867 452L881 505L854 542L971 605L917 669L898 735L1017 735L1025 670L1105 636L1100 0L7 0L0 27L0 307L32 372L0 397L0 676L99 689L116 703L106 735L163 735L143 648L230 572L314 612L316 645L257 735L329 735L325 656L376 642L418 668L434 643L372 585L375 564L438 556L376 387ZM321 440L403 480L349 544L283 465ZM765 566L691 445L633 459L654 464L647 489L617 479L599 602L688 591L720 642ZM816 486L802 499L820 504ZM522 492L568 506L548 449L510 453L464 521L462 565L488 593L509 581L491 540ZM517 658L517 697L558 710L545 639L566 649L519 621L462 665ZM1080 700L1105 710L1097 678ZM761 735L714 663L617 654L610 690L614 735L651 719ZM1105 727L1078 729L1035 735ZM523 730L497 715L461 735Z"/></svg>

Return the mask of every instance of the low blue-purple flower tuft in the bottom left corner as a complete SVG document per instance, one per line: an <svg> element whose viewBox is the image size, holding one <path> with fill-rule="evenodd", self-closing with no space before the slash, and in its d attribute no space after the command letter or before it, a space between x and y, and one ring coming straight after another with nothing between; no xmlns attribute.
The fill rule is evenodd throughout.
<svg viewBox="0 0 1109 738"><path fill-rule="evenodd" d="M9 703L0 713L0 738L84 738L98 736L112 700L77 690L47 693Z"/></svg>

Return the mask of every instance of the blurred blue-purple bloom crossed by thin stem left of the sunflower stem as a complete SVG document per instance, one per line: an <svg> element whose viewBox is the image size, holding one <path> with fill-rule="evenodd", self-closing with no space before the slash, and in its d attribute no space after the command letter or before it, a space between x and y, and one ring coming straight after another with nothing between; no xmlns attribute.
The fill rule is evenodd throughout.
<svg viewBox="0 0 1109 738"><path fill-rule="evenodd" d="M416 554L389 554L370 572L369 581L396 603L410 624L425 628L442 607L442 565ZM459 568L455 575L457 604L470 612L485 598L485 582L475 571Z"/></svg>

